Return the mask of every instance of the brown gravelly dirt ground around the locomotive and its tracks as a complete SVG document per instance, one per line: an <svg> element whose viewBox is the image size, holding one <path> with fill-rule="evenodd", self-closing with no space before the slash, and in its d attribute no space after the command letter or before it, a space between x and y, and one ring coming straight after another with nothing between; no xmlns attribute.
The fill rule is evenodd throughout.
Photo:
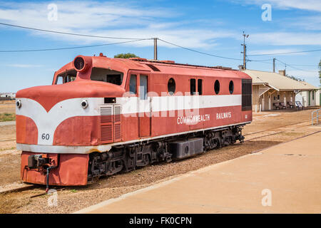
<svg viewBox="0 0 321 228"><path fill-rule="evenodd" d="M50 195L30 198L32 195L43 193L44 187L0 194L0 213L75 212L83 207L163 182L200 167L247 155L280 142L287 142L317 132L321 130L321 126L311 126L311 112L312 109L299 112L277 110L253 113L253 123L246 125L243 130L243 135L245 135L243 144L236 143L189 159L160 163L134 172L103 178L86 187L63 188L58 190L57 207L48 206ZM12 138L15 138L15 125L0 126L0 187L20 182L20 151L14 149L14 140L8 140Z"/></svg>

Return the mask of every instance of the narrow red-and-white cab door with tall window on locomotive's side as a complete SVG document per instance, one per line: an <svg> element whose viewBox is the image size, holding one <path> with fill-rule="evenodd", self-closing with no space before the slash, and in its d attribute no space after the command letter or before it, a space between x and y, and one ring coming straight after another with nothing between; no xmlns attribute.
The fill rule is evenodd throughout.
<svg viewBox="0 0 321 228"><path fill-rule="evenodd" d="M148 96L149 80L147 75L139 76L138 128L139 137L151 135L151 97Z"/></svg>

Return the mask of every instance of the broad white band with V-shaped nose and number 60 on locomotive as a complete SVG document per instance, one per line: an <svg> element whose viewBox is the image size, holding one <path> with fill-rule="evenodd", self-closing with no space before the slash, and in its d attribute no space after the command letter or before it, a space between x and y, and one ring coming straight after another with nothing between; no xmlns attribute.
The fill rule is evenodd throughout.
<svg viewBox="0 0 321 228"><path fill-rule="evenodd" d="M34 120L38 128L38 145L53 145L56 128L63 120L76 116L100 115L99 106L103 98L72 98L56 103L47 113L44 107L29 98L21 100L21 108L16 107L16 115L24 115ZM139 99L139 105L138 105ZM88 101L88 107L81 107L82 100ZM199 108L215 108L241 105L242 95L193 95L193 96L163 96L141 100L138 97L117 98L122 105L121 114L140 112L198 110Z"/></svg>

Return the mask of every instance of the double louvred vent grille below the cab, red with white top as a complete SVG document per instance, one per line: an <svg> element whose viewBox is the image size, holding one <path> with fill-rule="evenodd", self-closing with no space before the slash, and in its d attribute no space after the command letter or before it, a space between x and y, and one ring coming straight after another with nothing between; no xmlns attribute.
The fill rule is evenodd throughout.
<svg viewBox="0 0 321 228"><path fill-rule="evenodd" d="M121 105L103 105L101 110L101 143L121 140Z"/></svg>

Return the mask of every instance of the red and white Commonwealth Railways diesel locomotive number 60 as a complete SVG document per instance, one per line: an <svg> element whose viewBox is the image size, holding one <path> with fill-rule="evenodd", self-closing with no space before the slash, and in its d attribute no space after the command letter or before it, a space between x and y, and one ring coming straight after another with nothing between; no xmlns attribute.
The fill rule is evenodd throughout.
<svg viewBox="0 0 321 228"><path fill-rule="evenodd" d="M243 141L252 80L230 68L77 56L16 93L21 179L87 185Z"/></svg>

